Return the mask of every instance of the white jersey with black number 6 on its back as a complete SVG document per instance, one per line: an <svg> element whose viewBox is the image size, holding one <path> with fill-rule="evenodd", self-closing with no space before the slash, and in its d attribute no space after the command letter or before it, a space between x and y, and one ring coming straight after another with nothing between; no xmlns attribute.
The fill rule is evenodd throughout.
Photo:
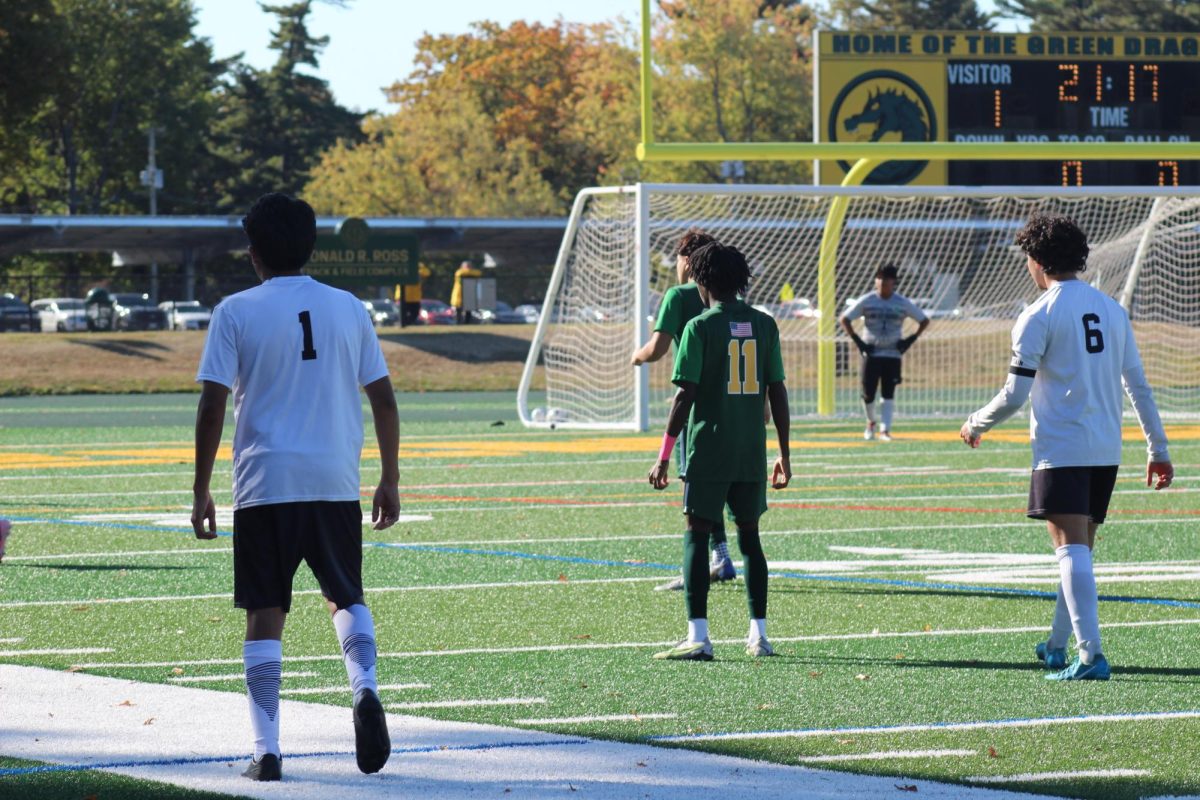
<svg viewBox="0 0 1200 800"><path fill-rule="evenodd" d="M1151 458L1166 459L1166 435L1129 318L1084 281L1055 282L1021 312L1009 373L1010 380L1033 378L1033 469L1120 464L1122 384Z"/></svg>

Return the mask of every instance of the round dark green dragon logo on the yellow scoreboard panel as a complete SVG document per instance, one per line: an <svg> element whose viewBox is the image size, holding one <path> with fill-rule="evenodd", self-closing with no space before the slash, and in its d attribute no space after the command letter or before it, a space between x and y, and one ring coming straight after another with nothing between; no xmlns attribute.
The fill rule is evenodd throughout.
<svg viewBox="0 0 1200 800"><path fill-rule="evenodd" d="M893 70L864 72L842 86L828 116L827 142L936 142L937 114L919 83ZM893 161L877 167L866 184L900 185L929 162ZM845 172L851 164L839 161Z"/></svg>

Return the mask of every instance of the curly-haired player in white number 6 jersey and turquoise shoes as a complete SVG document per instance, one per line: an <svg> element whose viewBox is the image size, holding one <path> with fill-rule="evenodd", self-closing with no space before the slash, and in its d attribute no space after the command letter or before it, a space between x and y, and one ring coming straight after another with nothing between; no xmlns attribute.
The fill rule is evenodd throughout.
<svg viewBox="0 0 1200 800"><path fill-rule="evenodd" d="M1058 557L1058 599L1050 638L1034 648L1050 680L1108 680L1092 547L1121 463L1121 387L1148 445L1146 486L1171 485L1175 469L1154 396L1124 309L1079 279L1087 237L1066 217L1034 215L1018 233L1030 276L1044 294L1013 327L1004 387L962 425L971 447L1032 393L1033 475L1027 515L1045 519ZM1067 664L1072 631L1079 655Z"/></svg>

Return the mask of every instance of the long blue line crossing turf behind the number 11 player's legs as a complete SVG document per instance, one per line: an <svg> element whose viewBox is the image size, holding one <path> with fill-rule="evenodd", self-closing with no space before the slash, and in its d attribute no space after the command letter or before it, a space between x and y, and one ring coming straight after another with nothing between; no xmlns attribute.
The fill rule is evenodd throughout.
<svg viewBox="0 0 1200 800"><path fill-rule="evenodd" d="M10 517L13 522L52 522L64 525L95 525L98 528L119 528L124 530L154 530L160 533L194 534L190 528L164 528L161 525L133 525L125 523L83 522L77 519L44 519L38 517ZM218 536L229 536L220 531ZM520 551L491 551L474 547L449 547L438 545L404 545L402 542L362 542L364 547L380 549L413 551L416 553L446 553L451 555L486 555L490 558L524 559L529 561L556 561L559 564L580 564L584 566L616 566L640 570L658 570L660 572L678 572L678 564L659 564L656 561L617 561L612 559L590 559L582 555L546 555L542 553L522 553ZM1008 595L1012 597L1030 597L1033 600L1057 600L1055 591L1037 589L1014 589L1013 587L977 587L966 583L934 583L929 581L905 581L902 578L868 578L844 575L808 575L804 572L772 572L773 578L790 581L814 581L817 583L850 583L860 585L899 587L902 589L926 589L940 591L977 591L989 595ZM1099 600L1111 603L1133 603L1138 606L1165 606L1168 608L1200 608L1200 602L1170 600L1166 597L1129 597L1126 595L1100 595Z"/></svg>

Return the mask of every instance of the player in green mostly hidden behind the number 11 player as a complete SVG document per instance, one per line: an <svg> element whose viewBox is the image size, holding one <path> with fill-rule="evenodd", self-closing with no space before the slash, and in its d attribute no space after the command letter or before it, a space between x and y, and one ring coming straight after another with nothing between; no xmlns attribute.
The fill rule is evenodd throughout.
<svg viewBox="0 0 1200 800"><path fill-rule="evenodd" d="M635 367L643 363L658 361L671 349L674 342L676 353L679 351L679 337L683 336L683 327L692 318L707 311L704 301L700 299L700 290L695 283L690 282L691 270L688 266L689 257L704 245L716 241L709 234L692 228L683 235L676 246L676 276L679 284L671 287L662 295L662 303L659 306L659 317L654 323L654 332L650 339L634 351L630 360ZM688 474L688 455L684 445L688 443L686 428L682 441L677 447L676 463L679 464L679 479ZM712 534L713 561L709 564L708 575L712 581L732 581L738 577L733 569L733 559L730 558L728 537L725 535L725 523L718 521ZM654 588L656 591L679 591L683 589L683 576L672 578L666 583Z"/></svg>

